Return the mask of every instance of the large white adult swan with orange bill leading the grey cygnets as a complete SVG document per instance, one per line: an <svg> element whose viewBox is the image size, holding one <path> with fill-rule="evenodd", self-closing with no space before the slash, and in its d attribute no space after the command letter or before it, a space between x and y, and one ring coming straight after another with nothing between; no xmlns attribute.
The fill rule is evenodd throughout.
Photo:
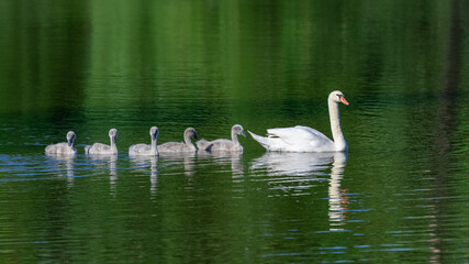
<svg viewBox="0 0 469 264"><path fill-rule="evenodd" d="M267 138L257 135L250 131L250 135L267 151L280 152L345 152L347 142L340 129L338 117L338 102L348 106L342 91L333 91L327 99L331 119L331 130L334 141L315 129L297 125L294 128L268 129Z"/></svg>

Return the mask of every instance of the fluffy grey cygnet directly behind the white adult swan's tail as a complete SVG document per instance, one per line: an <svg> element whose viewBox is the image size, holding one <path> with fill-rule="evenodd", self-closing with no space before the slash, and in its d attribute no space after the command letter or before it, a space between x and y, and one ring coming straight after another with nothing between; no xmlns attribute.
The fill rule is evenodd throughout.
<svg viewBox="0 0 469 264"><path fill-rule="evenodd" d="M243 152L243 146L241 145L237 135L243 135L246 138L244 133L244 129L241 124L235 124L232 128L232 140L214 140L206 141L200 140L197 142L197 147L201 151L205 152L217 152L217 151L226 151L226 152Z"/></svg>

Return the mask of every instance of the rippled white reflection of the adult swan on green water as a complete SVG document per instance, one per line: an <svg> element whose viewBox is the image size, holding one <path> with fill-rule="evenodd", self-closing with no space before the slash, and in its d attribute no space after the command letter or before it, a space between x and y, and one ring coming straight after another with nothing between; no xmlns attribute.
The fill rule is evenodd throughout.
<svg viewBox="0 0 469 264"><path fill-rule="evenodd" d="M344 212L347 199L340 187L344 168L347 162L346 153L276 153L266 152L261 157L253 160L253 172L265 170L278 189L293 188L291 194L304 194L311 182L324 180L328 177L328 219L330 230L340 230L345 224ZM327 170L331 168L331 173ZM295 184L293 184L295 183Z"/></svg>

